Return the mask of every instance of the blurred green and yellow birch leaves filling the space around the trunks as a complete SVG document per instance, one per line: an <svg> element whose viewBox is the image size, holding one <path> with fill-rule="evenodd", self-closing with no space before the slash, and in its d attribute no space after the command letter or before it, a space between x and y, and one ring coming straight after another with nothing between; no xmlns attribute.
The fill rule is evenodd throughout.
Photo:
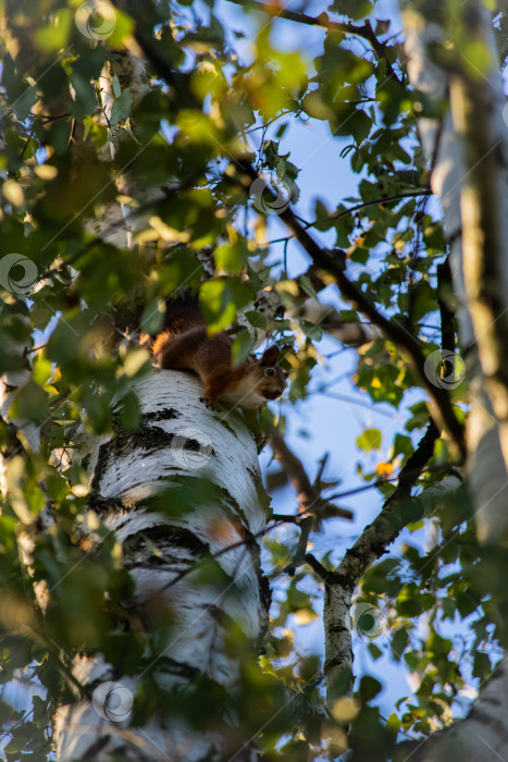
<svg viewBox="0 0 508 762"><path fill-rule="evenodd" d="M450 25L459 3L445 4ZM214 0L119 2L104 39L95 32L100 19L92 20L96 26L88 20L87 34L83 24L78 28L75 0L4 5L0 245L2 257L15 253L20 259L8 273L0 260L0 345L5 347L0 372L25 367L26 359L8 349L13 340L36 345L28 355L30 378L17 390L10 417L32 421L42 434L40 452L34 452L21 429L0 423L9 483L0 518L0 681L9 687L24 675L42 693L33 697L27 711L14 708L9 691L0 693L9 761L50 754L50 708L76 699L69 654L77 650L103 653L119 674L144 673L136 723L154 711L181 712L196 727L206 727L233 701L248 735L263 728L263 759L336 757L350 724L354 759L372 760L375 753L382 760L391 757L399 734L429 733L449 722L470 677L490 673L488 654L500 637L490 594L494 562L482 557L476 544L466 489L430 508L418 496L409 500L405 521L413 531L425 526L433 532L428 550L407 543L361 581L359 595L382 612L383 627L356 646L373 661L389 654L414 686L387 718L376 705L382 686L370 675L358 681L352 699L337 703L333 716L317 709L323 706L322 661L299 652L294 630L318 616L322 583L307 566L292 579L284 573L296 544L293 530L267 536L275 602L259 666L243 651L238 632L231 631L231 649L241 664L234 697L205 678L185 700L175 702L164 693L147 654L164 642L171 623L127 636L119 609L132 581L122 568L122 548L98 520L95 531L102 541L83 553L86 476L76 464L65 464L65 453L79 425L96 434L113 431L113 398L123 398L122 426L136 428L139 410L129 384L150 372L150 360L125 327L157 334L169 296L184 287L198 291L210 330L220 331L234 329L238 310L260 292L274 295L288 309L269 325L290 371L287 405L312 393L323 331L298 317L298 308L314 286L305 272L298 279L287 272L289 234L278 248L268 246L270 234L280 237L281 228L272 224L276 214L267 213L262 197L259 204L249 198L237 167L239 158L247 158L297 204L301 168L286 146L292 124L327 123L331 139L342 142L342 156L358 176L350 198L315 199L311 232L331 250L343 249L357 285L405 325L425 354L453 349L442 347L437 266L446 250L435 205L429 202L416 119L438 114L445 105L430 103L408 86L398 22L376 17L375 2L337 0L331 13L356 25L357 33L352 26L349 34L319 33L322 49L312 61L305 51L278 48L273 24L292 22L253 14L247 26L257 33L247 40L235 24L223 25L224 3L220 16L215 5ZM506 23L500 14L499 28ZM147 40L152 53L148 91L137 99L116 76L112 110L104 116L104 65L117 61L124 48L139 51ZM434 41L435 54L449 56L454 40L448 35ZM238 47L246 42L248 53L240 56ZM473 58L481 67L481 51ZM115 180L124 176L119 190ZM150 204L146 189L158 186L165 195ZM119 196L135 229L131 247L107 243L95 232L95 223L102 234L119 232L119 225L104 222ZM215 247L216 270L202 281L197 254L209 246ZM27 302L16 286L32 272L23 258L36 267ZM345 322L358 321L350 305L336 304ZM247 320L267 328L257 308L248 309ZM249 349L247 334L237 332L235 356ZM394 486L387 477L412 454L410 434L426 426L428 407L423 393L420 402L410 396L407 406L418 381L406 357L384 337L361 347L354 383L373 405L387 403L405 415L391 447L373 428L356 443L363 453L359 477L388 496ZM450 397L458 411L467 409L464 383L450 389ZM437 484L449 472L449 462L446 440L441 440L416 493L424 495ZM45 505L54 515L51 530L39 520ZM20 548L27 531L34 542L32 576ZM330 569L338 561L332 551L321 557ZM34 581L50 590L45 616ZM459 652L443 630L447 622L463 620L469 635Z"/></svg>

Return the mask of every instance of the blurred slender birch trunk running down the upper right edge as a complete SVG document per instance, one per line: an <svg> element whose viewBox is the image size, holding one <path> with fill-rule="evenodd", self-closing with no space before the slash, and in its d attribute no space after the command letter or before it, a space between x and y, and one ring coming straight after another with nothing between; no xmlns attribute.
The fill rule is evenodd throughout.
<svg viewBox="0 0 508 762"><path fill-rule="evenodd" d="M476 268L469 268L469 287L466 283L464 272L464 235L470 241L474 235L470 230L472 211L466 211L463 205L464 188L470 182L473 164L476 159L479 165L485 171L485 162L488 173L488 182L493 186L499 187L508 182L506 163L500 157L506 147L506 140L501 140L503 134L498 130L499 139L494 139L490 132L490 123L501 120L501 109L505 102L503 97L503 82L497 64L497 51L492 34L492 19L480 3L469 3L469 15L462 9L461 19L458 22L471 23L474 20L474 29L471 32L482 40L485 50L491 57L491 67L488 79L479 79L476 95L483 91L482 99L476 102L476 113L482 113L482 120L475 120L471 115L471 121L476 122L480 130L488 135L490 152L483 151L483 156L478 156L472 160L471 153L467 151L464 140L457 133L451 111L448 110L441 122L428 118L419 120L419 132L422 147L431 165L431 185L435 195L439 198L444 211L444 228L450 251L450 265L454 279L454 291L459 299L459 341L462 357L467 366L467 378L470 391L471 409L468 417L468 482L474 501L476 515L476 530L479 539L483 542L498 543L508 531L508 479L506 458L499 446L499 427L494 415L492 394L488 394L488 384L485 383L485 368L480 362L482 347L492 342L484 330L475 325L471 316L471 292L474 288L472 280L482 279L483 275L476 256ZM430 58L426 42L432 40L430 21L422 14L409 9L404 14L406 30L406 53L408 56L408 74L411 84L417 90L425 94L432 100L449 98L450 77L444 70L439 69ZM434 24L434 21L432 22ZM446 29L443 35L446 35ZM480 74L478 75L480 77ZM456 77L457 78L457 77ZM459 77L460 78L460 77ZM506 133L506 126L504 127ZM485 145L485 142L483 142ZM497 146L497 150L494 150ZM501 152L499 152L501 151ZM494 162L491 164L491 160ZM506 205L503 196L507 196L506 190L499 193L499 205L497 202L492 209L496 216L495 225L506 226L506 213L503 216L503 208ZM491 205L492 206L492 205ZM496 208L497 207L497 208ZM464 230L464 224L468 230ZM506 234L505 234L506 238ZM485 243L485 242L484 242ZM476 251L478 255L478 251ZM499 259L506 256L506 251L497 247L485 251L485 257ZM474 258L474 257L473 257ZM499 268L506 268L506 263L499 262ZM479 282L480 282L479 280ZM491 285L493 282L491 281ZM497 281L495 288L504 288L503 281ZM469 293L468 293L469 291ZM451 347L443 347L444 355ZM504 358L505 359L505 358ZM454 358L451 357L451 360ZM456 368L459 369L459 359L456 359Z"/></svg>

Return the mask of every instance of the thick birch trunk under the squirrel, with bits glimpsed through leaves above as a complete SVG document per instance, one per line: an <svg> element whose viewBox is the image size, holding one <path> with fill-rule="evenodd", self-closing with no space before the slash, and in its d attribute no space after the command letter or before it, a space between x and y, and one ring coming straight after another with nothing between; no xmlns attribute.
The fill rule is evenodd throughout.
<svg viewBox="0 0 508 762"><path fill-rule="evenodd" d="M116 57L103 75L106 120L119 95L113 77L116 90L119 85L122 91L128 88L135 103L148 88L143 62L125 51ZM134 124L132 128L135 133ZM114 182L135 205L163 197L157 187L141 186L128 169L117 172ZM147 221L141 216L126 221L131 210L110 204L89 226L104 241L133 246ZM150 251L144 255L149 258ZM138 328L129 327L129 339ZM90 531L83 551L92 553L102 541L95 531L102 523L134 582L132 598L122 605L125 637L157 631L158 648L150 652L145 638L146 666L135 675L117 674L100 653L74 656L72 672L86 698L55 711L58 759L248 760L255 752L244 745L233 709L219 716L212 706L215 722L207 732L187 723L185 713L157 704L137 726L133 712L148 675L158 691L173 697L189 695L199 679L208 678L227 689L234 706L239 657L231 650L232 628L239 628L246 652L256 660L270 605L259 541L268 496L256 443L240 415L201 402L202 385L194 377L153 371L133 390L139 427L125 431L119 423L113 437L83 435L80 451L74 453L90 480ZM116 420L120 408L121 401Z"/></svg>

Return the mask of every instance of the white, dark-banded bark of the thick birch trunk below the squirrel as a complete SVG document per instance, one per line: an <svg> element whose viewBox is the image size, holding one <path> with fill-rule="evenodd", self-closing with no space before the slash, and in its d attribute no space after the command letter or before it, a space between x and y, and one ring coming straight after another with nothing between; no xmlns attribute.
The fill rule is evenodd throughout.
<svg viewBox="0 0 508 762"><path fill-rule="evenodd" d="M153 659L159 685L183 688L191 681L189 675L201 673L234 691L237 664L225 648L224 623L237 623L255 657L255 643L268 619L258 537L267 519L267 499L256 445L238 414L210 410L200 402L197 379L164 370L145 377L135 390L140 428L88 441L92 511L124 543L124 565L135 581L134 600L125 603L126 609L136 611L147 627L154 614L164 611L171 610L175 618L171 638ZM168 488L189 477L207 480L220 499L172 516ZM165 514L146 505L149 496L162 492ZM199 578L200 562L210 554L220 554L216 563L230 580L219 591ZM101 657L77 659L74 674L90 691L108 681L120 684L113 693L125 699L127 708L135 701L136 680L113 676ZM123 759L156 754L191 762L224 759L241 748L232 717L226 720L228 733L210 735L171 717L152 717L143 728L128 728L128 716L117 723L99 716L97 696L92 703L86 700L58 710L59 760L91 754L107 760L114 753ZM247 760L249 754L246 750L235 759Z"/></svg>

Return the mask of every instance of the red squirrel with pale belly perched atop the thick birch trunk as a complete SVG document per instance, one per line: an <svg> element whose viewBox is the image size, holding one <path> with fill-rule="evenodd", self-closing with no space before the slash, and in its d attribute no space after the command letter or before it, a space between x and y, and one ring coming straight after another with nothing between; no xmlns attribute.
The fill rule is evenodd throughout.
<svg viewBox="0 0 508 762"><path fill-rule="evenodd" d="M205 402L257 410L284 392L286 377L277 365L278 347L260 359L233 368L233 342L226 333L210 337L196 302L173 303L166 330L156 339L152 353L160 368L193 370L205 384Z"/></svg>

